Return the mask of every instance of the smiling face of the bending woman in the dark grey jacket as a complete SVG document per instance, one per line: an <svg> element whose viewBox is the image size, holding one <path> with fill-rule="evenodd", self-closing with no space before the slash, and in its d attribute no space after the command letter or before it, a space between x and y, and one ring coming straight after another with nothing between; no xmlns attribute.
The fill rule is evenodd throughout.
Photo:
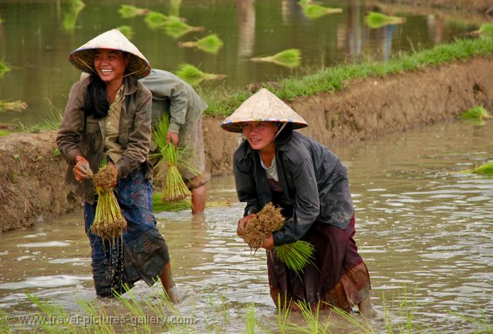
<svg viewBox="0 0 493 334"><path fill-rule="evenodd" d="M274 138L278 130L275 122L243 122L243 136L254 150L267 151L275 148Z"/></svg>

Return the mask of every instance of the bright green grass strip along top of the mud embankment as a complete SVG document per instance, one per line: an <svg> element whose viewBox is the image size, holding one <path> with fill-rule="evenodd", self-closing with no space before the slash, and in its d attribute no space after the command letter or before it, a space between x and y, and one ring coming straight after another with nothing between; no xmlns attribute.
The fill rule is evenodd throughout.
<svg viewBox="0 0 493 334"><path fill-rule="evenodd" d="M493 53L490 38L457 40L451 44L440 44L433 49L414 53L398 53L388 62L366 61L357 64L323 68L308 74L298 74L281 79L275 84L263 83L280 99L291 101L296 97L311 96L320 92L334 92L344 88L347 81L366 77L403 73L427 66L438 66L464 60L472 56L487 56ZM228 116L253 93L245 89L214 88L201 92L209 108L205 114Z"/></svg>

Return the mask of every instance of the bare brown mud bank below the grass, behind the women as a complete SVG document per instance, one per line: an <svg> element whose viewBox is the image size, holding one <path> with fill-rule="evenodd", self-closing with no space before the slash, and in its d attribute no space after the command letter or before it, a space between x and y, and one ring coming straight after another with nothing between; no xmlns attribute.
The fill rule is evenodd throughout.
<svg viewBox="0 0 493 334"><path fill-rule="evenodd" d="M470 58L424 70L352 81L336 93L289 104L309 127L301 130L333 146L456 118L475 105L493 109L493 58ZM220 129L221 117L203 121L207 170L231 172L240 136ZM0 138L0 231L23 227L81 206L64 186L66 163L55 133Z"/></svg>

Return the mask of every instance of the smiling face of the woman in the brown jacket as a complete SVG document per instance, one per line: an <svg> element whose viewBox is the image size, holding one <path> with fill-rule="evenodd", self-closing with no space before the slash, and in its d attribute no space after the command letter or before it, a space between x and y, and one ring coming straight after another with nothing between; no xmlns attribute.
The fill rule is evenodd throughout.
<svg viewBox="0 0 493 334"><path fill-rule="evenodd" d="M107 84L123 80L123 73L125 73L128 62L129 57L118 50L97 49L94 55L94 68Z"/></svg>

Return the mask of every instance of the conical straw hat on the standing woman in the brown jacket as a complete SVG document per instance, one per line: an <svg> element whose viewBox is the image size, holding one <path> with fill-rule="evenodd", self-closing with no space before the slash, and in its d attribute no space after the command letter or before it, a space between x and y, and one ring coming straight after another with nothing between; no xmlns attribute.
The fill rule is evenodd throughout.
<svg viewBox="0 0 493 334"><path fill-rule="evenodd" d="M125 75L134 75L140 79L147 77L151 71L151 65L146 57L118 29L106 31L92 38L86 44L72 51L68 55L68 60L79 70L86 73L96 73L94 53L97 49L112 49L129 53L131 57L125 69Z"/></svg>

